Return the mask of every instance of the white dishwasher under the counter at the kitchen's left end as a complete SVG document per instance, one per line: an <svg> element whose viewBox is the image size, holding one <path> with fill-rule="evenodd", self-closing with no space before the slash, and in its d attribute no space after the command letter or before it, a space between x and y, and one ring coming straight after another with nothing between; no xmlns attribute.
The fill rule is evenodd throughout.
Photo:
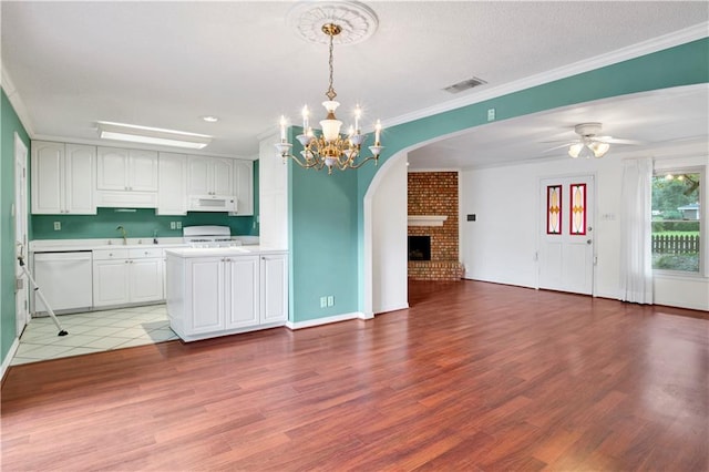
<svg viewBox="0 0 709 472"><path fill-rule="evenodd" d="M54 311L90 310L93 306L91 250L34 253L34 280ZM34 298L34 315L47 311Z"/></svg>

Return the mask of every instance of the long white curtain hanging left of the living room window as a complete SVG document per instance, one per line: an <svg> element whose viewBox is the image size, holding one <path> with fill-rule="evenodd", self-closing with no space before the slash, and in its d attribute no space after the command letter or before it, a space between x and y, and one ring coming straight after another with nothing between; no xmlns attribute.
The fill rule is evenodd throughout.
<svg viewBox="0 0 709 472"><path fill-rule="evenodd" d="M623 163L620 192L620 299L653 304L653 160Z"/></svg>

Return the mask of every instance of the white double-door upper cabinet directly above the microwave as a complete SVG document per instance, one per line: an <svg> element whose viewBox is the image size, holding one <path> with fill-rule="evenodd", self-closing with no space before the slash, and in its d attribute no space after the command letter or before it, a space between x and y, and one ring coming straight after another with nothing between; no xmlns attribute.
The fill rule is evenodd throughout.
<svg viewBox="0 0 709 472"><path fill-rule="evenodd" d="M187 157L188 195L234 195L234 160Z"/></svg>

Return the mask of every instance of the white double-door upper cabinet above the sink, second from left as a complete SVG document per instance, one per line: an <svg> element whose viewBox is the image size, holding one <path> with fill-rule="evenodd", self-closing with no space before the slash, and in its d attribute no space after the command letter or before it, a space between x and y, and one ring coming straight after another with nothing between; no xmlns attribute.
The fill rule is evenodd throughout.
<svg viewBox="0 0 709 472"><path fill-rule="evenodd" d="M157 152L99 147L99 191L157 192Z"/></svg>

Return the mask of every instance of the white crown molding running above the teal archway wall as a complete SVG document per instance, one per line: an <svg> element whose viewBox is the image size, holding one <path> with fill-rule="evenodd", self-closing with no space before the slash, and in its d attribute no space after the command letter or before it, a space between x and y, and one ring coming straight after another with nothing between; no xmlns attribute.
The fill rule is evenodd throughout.
<svg viewBox="0 0 709 472"><path fill-rule="evenodd" d="M393 119L382 120L382 125L390 129L392 126L409 123L414 120L420 120L423 117L436 115L439 113L449 112L451 110L484 102L491 99L496 99L499 96L508 95L514 92L520 92L522 90L531 89L533 86L542 85L548 82L554 82L556 80L566 79L572 75L593 71L607 65L616 64L618 62L640 58L643 55L651 54L654 52L707 38L709 35L708 31L709 21L705 21L693 27L664 34L661 37L653 38L650 40L643 41L636 44L631 44L629 47L621 48L606 54L596 55L594 58L574 62L572 64L553 69L551 71L530 75L517 81L513 81L487 90L482 90L464 98L450 100L448 102L429 106L427 109L421 109Z"/></svg>

